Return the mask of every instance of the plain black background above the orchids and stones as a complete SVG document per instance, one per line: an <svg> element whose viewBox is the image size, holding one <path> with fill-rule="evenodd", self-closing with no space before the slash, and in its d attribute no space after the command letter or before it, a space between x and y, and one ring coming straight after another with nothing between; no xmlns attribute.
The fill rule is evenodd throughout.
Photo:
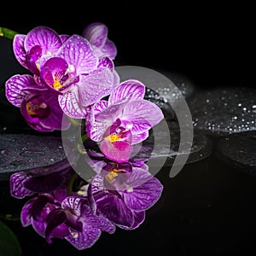
<svg viewBox="0 0 256 256"><path fill-rule="evenodd" d="M8 3L7 3L8 4ZM203 88L254 86L255 15L241 3L20 3L2 11L1 26L26 33L49 26L80 34L90 22L108 26L116 65L170 70ZM5 11L6 10L6 11Z"/></svg>

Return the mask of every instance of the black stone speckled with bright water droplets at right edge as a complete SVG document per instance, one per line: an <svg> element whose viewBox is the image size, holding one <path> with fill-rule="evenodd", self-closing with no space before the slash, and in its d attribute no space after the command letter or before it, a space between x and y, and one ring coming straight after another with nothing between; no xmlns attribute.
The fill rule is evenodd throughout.
<svg viewBox="0 0 256 256"><path fill-rule="evenodd" d="M201 91L189 100L195 130L227 135L256 130L256 90L227 88Z"/></svg>

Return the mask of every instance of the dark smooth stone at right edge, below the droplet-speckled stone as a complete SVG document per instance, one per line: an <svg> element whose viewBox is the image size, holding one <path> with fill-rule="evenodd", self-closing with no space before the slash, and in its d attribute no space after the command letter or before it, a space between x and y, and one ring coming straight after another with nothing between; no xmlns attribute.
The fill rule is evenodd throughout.
<svg viewBox="0 0 256 256"><path fill-rule="evenodd" d="M219 138L216 154L227 165L256 176L256 131Z"/></svg>

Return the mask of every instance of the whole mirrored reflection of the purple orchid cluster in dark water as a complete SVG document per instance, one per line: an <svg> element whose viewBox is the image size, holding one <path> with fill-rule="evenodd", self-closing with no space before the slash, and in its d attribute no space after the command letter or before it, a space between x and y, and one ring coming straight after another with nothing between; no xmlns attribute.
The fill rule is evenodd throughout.
<svg viewBox="0 0 256 256"><path fill-rule="evenodd" d="M32 224L49 243L63 238L82 250L93 246L102 232L137 229L160 199L163 185L148 172L147 159L118 163L95 151L87 156L84 160L95 171L89 180L76 175L67 159L10 177L11 195L28 198L21 224ZM74 174L70 194L67 187Z"/></svg>

